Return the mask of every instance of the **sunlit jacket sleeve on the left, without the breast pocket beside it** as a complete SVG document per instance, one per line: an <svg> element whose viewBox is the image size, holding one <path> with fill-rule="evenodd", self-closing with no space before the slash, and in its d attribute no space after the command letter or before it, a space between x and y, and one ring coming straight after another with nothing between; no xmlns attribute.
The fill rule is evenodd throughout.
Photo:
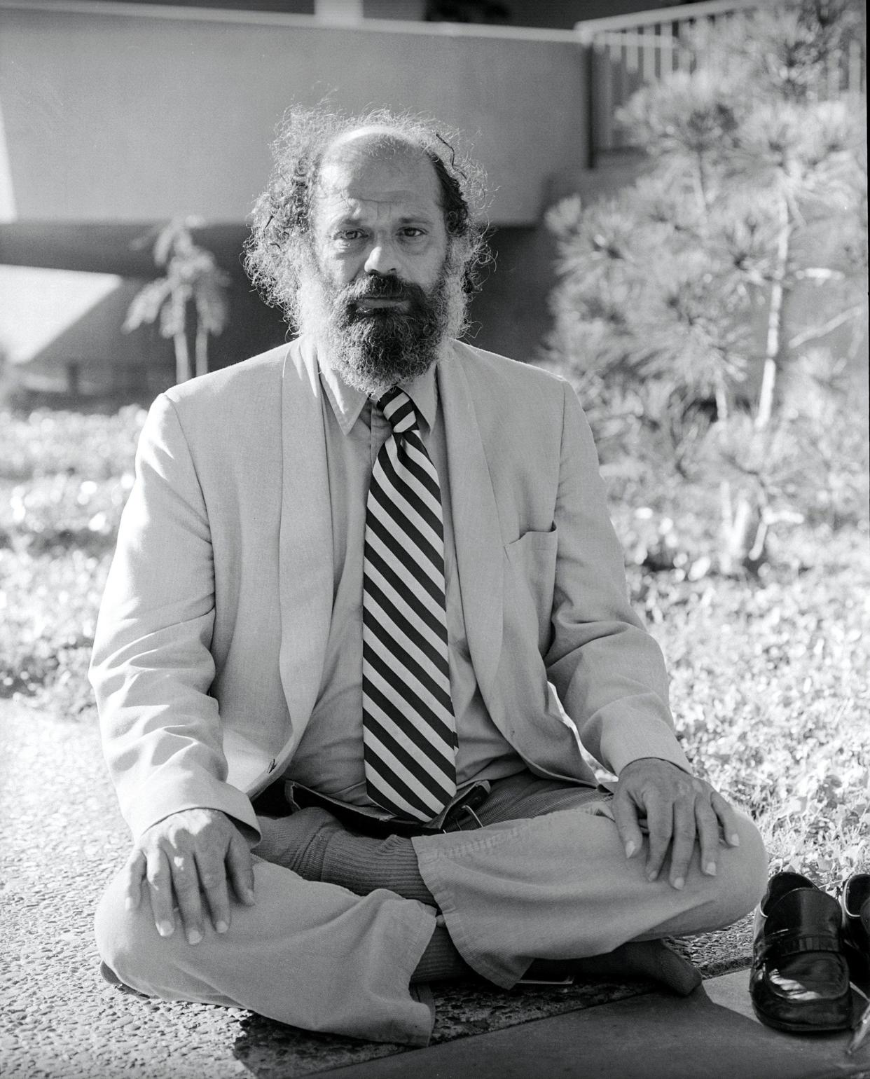
<svg viewBox="0 0 870 1079"><path fill-rule="evenodd" d="M249 800L226 782L209 696L214 618L205 500L175 407L161 395L139 438L91 664L104 752L134 836L196 806L257 833Z"/></svg>

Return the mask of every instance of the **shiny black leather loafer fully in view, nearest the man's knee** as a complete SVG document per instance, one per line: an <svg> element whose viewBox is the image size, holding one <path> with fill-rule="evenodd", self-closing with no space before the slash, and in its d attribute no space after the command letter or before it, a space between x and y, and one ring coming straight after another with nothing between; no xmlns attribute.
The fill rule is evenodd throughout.
<svg viewBox="0 0 870 1079"><path fill-rule="evenodd" d="M840 904L800 873L777 873L756 912L749 993L767 1026L845 1030L852 1020Z"/></svg>

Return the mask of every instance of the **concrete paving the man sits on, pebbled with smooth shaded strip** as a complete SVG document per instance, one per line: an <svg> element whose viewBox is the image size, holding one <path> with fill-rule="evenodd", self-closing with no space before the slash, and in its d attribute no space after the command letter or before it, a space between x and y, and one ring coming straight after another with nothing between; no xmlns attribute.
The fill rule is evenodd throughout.
<svg viewBox="0 0 870 1079"><path fill-rule="evenodd" d="M436 995L439 1043L413 1052L126 996L99 978L92 919L128 842L94 723L0 701L3 1079L870 1079L870 1047L849 1062L844 1036L793 1038L747 1019L745 971L688 1000L641 985L456 987Z"/></svg>

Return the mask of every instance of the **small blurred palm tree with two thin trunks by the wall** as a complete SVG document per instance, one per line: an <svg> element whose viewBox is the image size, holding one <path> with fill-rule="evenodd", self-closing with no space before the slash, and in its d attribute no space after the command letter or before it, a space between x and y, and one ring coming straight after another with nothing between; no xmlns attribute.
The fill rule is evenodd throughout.
<svg viewBox="0 0 870 1079"><path fill-rule="evenodd" d="M218 267L210 251L193 242L191 230L202 223L194 217L173 218L160 230L154 243L154 262L166 268L165 275L136 293L124 319L124 332L130 332L142 323L160 318L161 334L172 338L175 345L177 382L191 377L189 305L193 304L196 316L193 344L196 374L208 370L209 333L217 337L227 324L229 275Z"/></svg>

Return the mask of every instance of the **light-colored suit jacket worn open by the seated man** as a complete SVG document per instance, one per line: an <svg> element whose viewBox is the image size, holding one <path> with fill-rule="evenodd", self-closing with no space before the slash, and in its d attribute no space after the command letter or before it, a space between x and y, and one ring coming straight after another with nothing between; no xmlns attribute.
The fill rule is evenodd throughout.
<svg viewBox="0 0 870 1079"><path fill-rule="evenodd" d="M468 647L493 722L542 776L592 780L577 734L615 773L641 756L688 767L573 391L459 342L438 386ZM91 671L135 835L194 806L256 834L250 797L305 729L332 605L321 395L301 340L149 412Z"/></svg>

